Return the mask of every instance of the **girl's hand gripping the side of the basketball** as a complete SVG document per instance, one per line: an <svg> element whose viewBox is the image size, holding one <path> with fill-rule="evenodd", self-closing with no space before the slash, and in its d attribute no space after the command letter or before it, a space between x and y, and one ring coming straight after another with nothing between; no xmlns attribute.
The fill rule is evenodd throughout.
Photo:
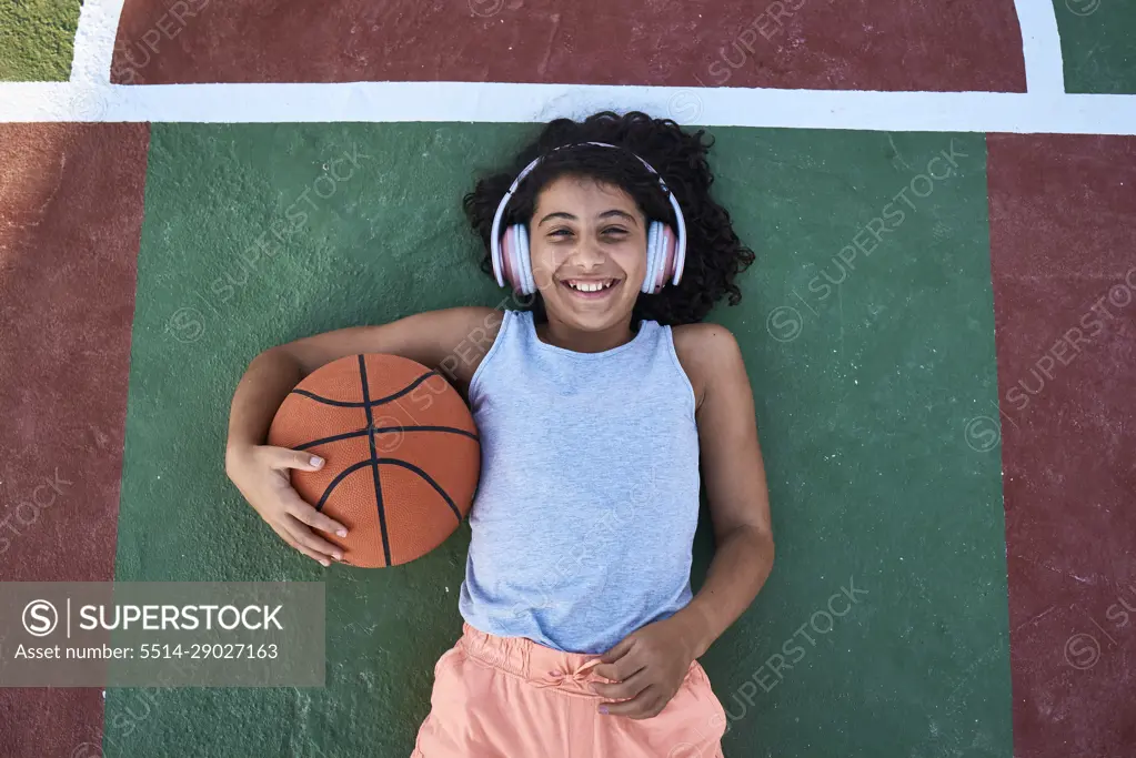
<svg viewBox="0 0 1136 758"><path fill-rule="evenodd" d="M229 448L225 455L225 473L273 531L309 558L329 566L332 559L343 558L343 550L311 528L346 537L346 527L306 503L289 477L290 469L318 471L323 465L323 460L310 453L272 445Z"/></svg>

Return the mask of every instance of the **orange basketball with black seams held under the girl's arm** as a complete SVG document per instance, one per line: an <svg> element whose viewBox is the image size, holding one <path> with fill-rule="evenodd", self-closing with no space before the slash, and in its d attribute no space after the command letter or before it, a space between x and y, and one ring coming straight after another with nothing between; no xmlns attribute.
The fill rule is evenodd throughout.
<svg viewBox="0 0 1136 758"><path fill-rule="evenodd" d="M348 529L317 533L343 562L377 568L419 558L469 513L481 472L473 415L437 372L398 355L320 367L281 403L268 444L324 458L292 487Z"/></svg>

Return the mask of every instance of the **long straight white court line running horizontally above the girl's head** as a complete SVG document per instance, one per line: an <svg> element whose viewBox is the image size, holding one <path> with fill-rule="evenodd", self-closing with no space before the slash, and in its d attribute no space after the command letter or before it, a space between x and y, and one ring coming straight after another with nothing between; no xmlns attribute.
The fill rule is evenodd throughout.
<svg viewBox="0 0 1136 758"><path fill-rule="evenodd" d="M542 123L604 108L704 126L1136 134L1136 95L466 82L0 84L0 121Z"/></svg>

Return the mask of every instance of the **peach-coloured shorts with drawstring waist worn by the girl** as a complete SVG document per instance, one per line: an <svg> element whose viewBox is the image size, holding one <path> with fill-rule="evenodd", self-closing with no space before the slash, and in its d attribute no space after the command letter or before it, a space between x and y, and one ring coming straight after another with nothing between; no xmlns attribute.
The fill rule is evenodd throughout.
<svg viewBox="0 0 1136 758"><path fill-rule="evenodd" d="M411 758L722 758L726 713L698 660L653 718L605 716L588 682L599 656L462 624L434 666Z"/></svg>

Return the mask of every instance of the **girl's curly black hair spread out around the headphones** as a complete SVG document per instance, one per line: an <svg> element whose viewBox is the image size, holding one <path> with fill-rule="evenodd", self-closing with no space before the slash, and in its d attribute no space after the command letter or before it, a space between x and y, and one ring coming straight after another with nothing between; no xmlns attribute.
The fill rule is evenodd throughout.
<svg viewBox="0 0 1136 758"><path fill-rule="evenodd" d="M658 295L640 294L632 313L633 323L641 319L673 326L694 323L704 319L722 295L729 296L730 305L737 305L742 293L734 278L753 263L754 254L734 233L726 209L710 196L713 176L705 157L713 141L712 137L703 141L704 134L703 129L687 134L669 118L651 118L640 111L624 116L603 111L583 121L568 118L550 121L517 154L510 170L482 178L462 201L466 218L485 243L482 270L493 276L488 245L498 204L521 169L537 155L546 158L517 187L501 220L502 229L511 224L531 224L541 189L561 176L587 177L620 187L649 220L662 220L674 227L674 209L658 179L635 158L640 155L659 171L683 209L686 263L677 286L668 281ZM634 154L592 145L552 152L580 142L605 142ZM537 322L548 320L538 293L521 303L520 310L533 310Z"/></svg>

